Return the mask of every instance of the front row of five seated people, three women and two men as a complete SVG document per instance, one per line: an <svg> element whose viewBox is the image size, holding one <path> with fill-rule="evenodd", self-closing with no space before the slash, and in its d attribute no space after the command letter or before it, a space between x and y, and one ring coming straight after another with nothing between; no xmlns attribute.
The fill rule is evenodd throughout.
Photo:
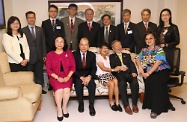
<svg viewBox="0 0 187 122"><path fill-rule="evenodd" d="M142 109L151 109L150 117L156 118L162 112L174 109L169 100L166 86L170 66L166 61L163 49L157 46L155 34L152 31L147 31L145 43L147 48L142 49L135 62L145 81L145 98ZM108 87L109 105L113 111L122 112L119 103L120 94L127 114L132 115L133 112L139 112L137 70L131 56L122 53L119 41L112 42L114 53L111 55L108 55L107 44L100 47L99 54L95 55L88 51L89 41L87 38L80 40L79 50L73 53L67 50L66 41L62 37L56 38L55 46L56 50L47 54L46 70L54 89L59 121L62 121L63 117L69 117L67 104L73 83L79 102L78 111L84 112L83 87L86 86L89 92L89 114L91 116L96 114L94 108L96 89L94 79L96 76L103 86ZM143 69L141 62L146 64L145 69ZM127 82L130 84L132 92L132 109L128 102ZM113 100L113 95L115 100Z"/></svg>

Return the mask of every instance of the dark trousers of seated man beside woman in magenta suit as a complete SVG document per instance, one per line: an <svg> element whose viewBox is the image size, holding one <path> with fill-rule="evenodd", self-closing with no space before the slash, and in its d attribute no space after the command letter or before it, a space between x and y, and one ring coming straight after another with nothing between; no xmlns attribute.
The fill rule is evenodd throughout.
<svg viewBox="0 0 187 122"><path fill-rule="evenodd" d="M76 91L78 101L79 103L83 103L84 85L82 84L82 80L80 78L75 78L74 84L75 84L75 91ZM96 89L96 84L94 82L94 79L91 79L90 82L88 83L88 86L86 87L88 88L88 93L89 93L89 103L93 104L95 100L95 89Z"/></svg>

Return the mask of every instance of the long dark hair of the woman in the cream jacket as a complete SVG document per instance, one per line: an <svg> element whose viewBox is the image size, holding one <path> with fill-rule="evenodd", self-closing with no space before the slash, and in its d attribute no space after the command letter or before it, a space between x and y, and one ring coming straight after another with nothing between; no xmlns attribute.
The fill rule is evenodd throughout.
<svg viewBox="0 0 187 122"><path fill-rule="evenodd" d="M19 29L18 29L18 32L19 34L21 35L21 37L23 37L23 32L21 30L21 22L19 20L18 17L16 16L11 16L9 19L8 19L8 22L7 22L7 34L12 36L12 28L10 27L10 25L14 22L14 21L18 21L19 22Z"/></svg>

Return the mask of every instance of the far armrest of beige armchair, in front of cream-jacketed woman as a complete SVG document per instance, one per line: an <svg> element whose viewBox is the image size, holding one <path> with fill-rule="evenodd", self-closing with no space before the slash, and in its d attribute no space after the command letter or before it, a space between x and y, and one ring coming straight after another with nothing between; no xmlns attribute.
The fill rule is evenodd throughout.
<svg viewBox="0 0 187 122"><path fill-rule="evenodd" d="M9 72L3 75L5 86L34 84L32 72Z"/></svg>

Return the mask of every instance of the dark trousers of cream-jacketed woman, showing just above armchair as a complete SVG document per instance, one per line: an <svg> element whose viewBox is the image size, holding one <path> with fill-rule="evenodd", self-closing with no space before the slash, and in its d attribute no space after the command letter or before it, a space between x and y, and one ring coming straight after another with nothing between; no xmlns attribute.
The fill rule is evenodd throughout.
<svg viewBox="0 0 187 122"><path fill-rule="evenodd" d="M21 64L9 63L11 72L28 71L28 64L22 66Z"/></svg>

